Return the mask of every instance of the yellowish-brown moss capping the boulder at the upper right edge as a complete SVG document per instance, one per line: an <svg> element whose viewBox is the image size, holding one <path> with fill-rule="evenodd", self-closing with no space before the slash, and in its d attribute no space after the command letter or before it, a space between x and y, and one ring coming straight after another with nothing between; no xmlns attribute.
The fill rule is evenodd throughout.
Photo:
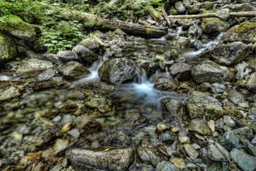
<svg viewBox="0 0 256 171"><path fill-rule="evenodd" d="M256 24L254 22L243 22L238 27L234 28L234 33L241 34L255 34Z"/></svg>

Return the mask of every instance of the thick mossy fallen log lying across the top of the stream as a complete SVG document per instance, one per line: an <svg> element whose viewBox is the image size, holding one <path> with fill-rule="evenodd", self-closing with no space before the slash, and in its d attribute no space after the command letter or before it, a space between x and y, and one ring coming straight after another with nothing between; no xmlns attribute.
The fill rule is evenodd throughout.
<svg viewBox="0 0 256 171"><path fill-rule="evenodd" d="M47 6L47 8L52 10L54 13L61 14L61 16L67 19L77 20L79 22L83 22L86 26L96 27L97 29L107 29L112 31L115 29L121 29L125 33L150 38L161 37L168 33L167 27L145 26L122 21L101 19L97 15L76 10L67 10L57 6Z"/></svg>

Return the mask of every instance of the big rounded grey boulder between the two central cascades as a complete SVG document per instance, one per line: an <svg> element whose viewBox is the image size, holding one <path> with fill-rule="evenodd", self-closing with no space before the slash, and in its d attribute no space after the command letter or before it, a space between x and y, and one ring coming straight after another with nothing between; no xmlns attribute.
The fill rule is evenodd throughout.
<svg viewBox="0 0 256 171"><path fill-rule="evenodd" d="M136 75L134 64L125 57L109 59L99 68L99 77L111 84L120 84Z"/></svg>

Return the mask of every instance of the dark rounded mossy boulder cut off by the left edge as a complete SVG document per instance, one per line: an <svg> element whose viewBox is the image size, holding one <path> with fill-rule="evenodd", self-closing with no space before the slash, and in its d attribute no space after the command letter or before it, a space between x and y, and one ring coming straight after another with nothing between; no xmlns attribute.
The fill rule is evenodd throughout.
<svg viewBox="0 0 256 171"><path fill-rule="evenodd" d="M13 59L17 55L17 47L12 38L0 33L0 63Z"/></svg>

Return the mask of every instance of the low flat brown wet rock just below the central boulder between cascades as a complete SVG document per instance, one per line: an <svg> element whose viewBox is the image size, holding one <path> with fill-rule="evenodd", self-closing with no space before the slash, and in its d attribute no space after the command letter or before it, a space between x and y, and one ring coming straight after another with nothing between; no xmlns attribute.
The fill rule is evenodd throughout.
<svg viewBox="0 0 256 171"><path fill-rule="evenodd" d="M97 91L98 93L102 94L112 93L116 89L115 86L110 85L106 82L90 82L89 85L90 87L92 87L94 91Z"/></svg>

